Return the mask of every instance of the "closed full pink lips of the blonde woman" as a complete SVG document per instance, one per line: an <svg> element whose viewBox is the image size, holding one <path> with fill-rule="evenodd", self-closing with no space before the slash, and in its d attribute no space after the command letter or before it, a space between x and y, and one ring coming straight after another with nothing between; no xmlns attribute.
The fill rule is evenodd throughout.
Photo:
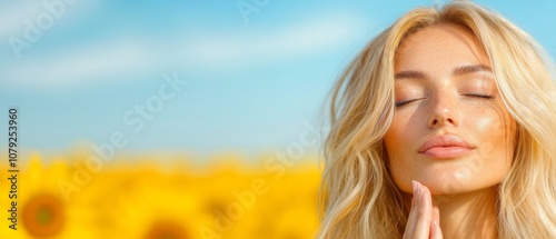
<svg viewBox="0 0 556 239"><path fill-rule="evenodd" d="M474 146L458 136L443 135L427 139L418 152L430 158L449 159L466 155L473 149Z"/></svg>

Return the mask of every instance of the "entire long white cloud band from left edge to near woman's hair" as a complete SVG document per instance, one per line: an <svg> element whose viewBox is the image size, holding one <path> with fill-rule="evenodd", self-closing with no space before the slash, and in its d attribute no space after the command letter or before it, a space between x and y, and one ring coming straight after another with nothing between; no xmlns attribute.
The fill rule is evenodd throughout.
<svg viewBox="0 0 556 239"><path fill-rule="evenodd" d="M165 66L226 73L277 60L318 58L358 41L366 34L364 26L357 18L334 14L256 34L199 32L167 42L130 36L107 38L86 49L63 49L39 57L28 54L2 72L11 80L1 87L67 89L107 80L129 80L145 70Z"/></svg>

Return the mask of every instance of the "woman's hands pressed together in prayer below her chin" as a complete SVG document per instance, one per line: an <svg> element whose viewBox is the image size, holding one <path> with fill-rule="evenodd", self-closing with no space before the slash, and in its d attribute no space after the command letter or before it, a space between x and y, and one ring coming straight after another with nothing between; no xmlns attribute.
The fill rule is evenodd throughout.
<svg viewBox="0 0 556 239"><path fill-rule="evenodd" d="M440 213L433 206L430 190L418 181L413 181L414 198L407 219L404 239L441 239Z"/></svg>

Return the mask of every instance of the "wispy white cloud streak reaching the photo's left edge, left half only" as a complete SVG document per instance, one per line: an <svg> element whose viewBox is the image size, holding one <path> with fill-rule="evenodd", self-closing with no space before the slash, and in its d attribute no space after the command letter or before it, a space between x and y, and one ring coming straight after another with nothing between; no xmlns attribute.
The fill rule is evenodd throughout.
<svg viewBox="0 0 556 239"><path fill-rule="evenodd" d="M6 72L11 87L66 89L115 80L149 67L152 53L141 42L120 40L57 56L26 57ZM10 87L10 86L4 86Z"/></svg>

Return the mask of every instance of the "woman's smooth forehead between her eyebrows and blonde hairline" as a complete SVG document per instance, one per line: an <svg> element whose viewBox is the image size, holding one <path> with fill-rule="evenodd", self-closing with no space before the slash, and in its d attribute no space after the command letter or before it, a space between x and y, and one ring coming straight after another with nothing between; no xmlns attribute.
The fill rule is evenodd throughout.
<svg viewBox="0 0 556 239"><path fill-rule="evenodd" d="M409 34L396 51L395 69L439 72L464 64L490 66L477 39L467 29L443 23Z"/></svg>

